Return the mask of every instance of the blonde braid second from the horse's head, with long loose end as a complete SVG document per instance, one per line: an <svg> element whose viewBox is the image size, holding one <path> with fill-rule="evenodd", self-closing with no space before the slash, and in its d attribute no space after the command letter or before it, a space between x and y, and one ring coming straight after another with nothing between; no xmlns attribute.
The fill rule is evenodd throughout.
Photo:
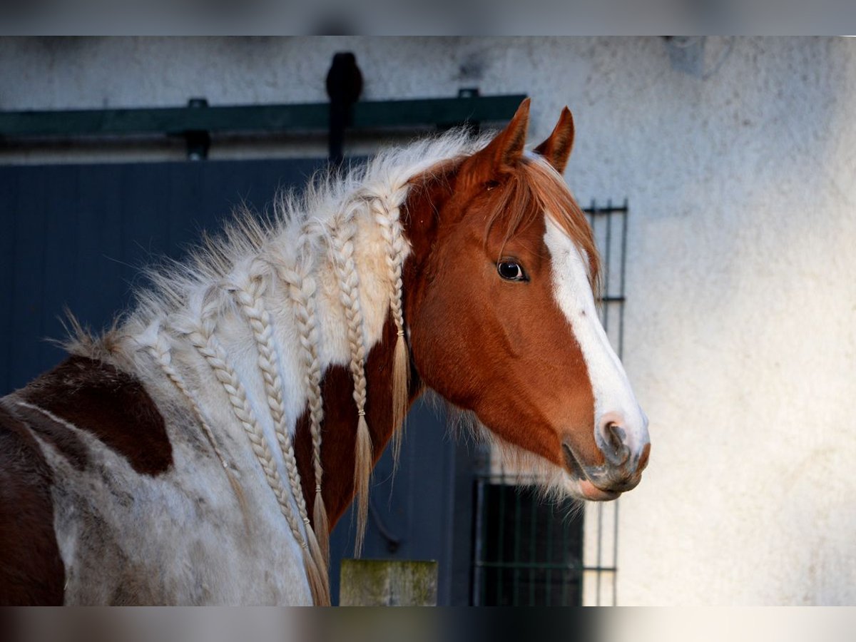
<svg viewBox="0 0 856 642"><path fill-rule="evenodd" d="M353 215L353 210L348 212ZM360 309L360 277L354 264L353 216L342 216L332 230L333 264L339 281L340 300L348 320L348 344L351 350L350 371L354 379L354 401L357 404L354 488L357 493L357 534L354 556L360 556L366 538L369 479L372 475L372 437L366 424L366 342L363 338L363 313Z"/></svg>

